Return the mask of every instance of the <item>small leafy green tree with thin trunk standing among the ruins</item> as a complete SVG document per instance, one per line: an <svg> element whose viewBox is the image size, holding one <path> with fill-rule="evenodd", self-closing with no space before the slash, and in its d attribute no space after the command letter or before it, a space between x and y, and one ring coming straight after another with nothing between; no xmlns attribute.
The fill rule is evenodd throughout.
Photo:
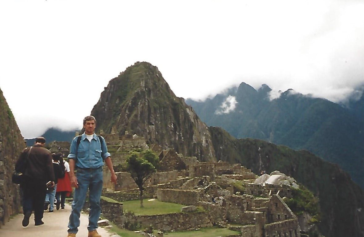
<svg viewBox="0 0 364 237"><path fill-rule="evenodd" d="M151 150L146 150L141 155L133 152L126 159L125 171L131 174L131 177L138 185L141 207L143 207L143 184L152 173L157 172L158 163L157 155Z"/></svg>

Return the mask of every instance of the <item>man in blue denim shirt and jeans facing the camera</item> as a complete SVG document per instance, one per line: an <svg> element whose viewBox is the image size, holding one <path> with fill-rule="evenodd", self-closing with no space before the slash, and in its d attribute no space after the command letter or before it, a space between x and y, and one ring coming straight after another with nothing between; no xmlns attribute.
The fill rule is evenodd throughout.
<svg viewBox="0 0 364 237"><path fill-rule="evenodd" d="M96 119L87 116L83 119L85 132L77 144L77 138L72 140L70 154L71 185L75 187L72 202L70 222L68 222L68 236L75 237L80 226L80 212L86 199L87 189L90 189L90 213L88 214L88 237L101 237L96 229L101 213L100 198L102 191L102 166L103 161L111 172L111 182L116 184L116 175L112 168L110 153L107 152L106 142L103 137L99 139L95 134ZM75 176L74 170L77 169Z"/></svg>

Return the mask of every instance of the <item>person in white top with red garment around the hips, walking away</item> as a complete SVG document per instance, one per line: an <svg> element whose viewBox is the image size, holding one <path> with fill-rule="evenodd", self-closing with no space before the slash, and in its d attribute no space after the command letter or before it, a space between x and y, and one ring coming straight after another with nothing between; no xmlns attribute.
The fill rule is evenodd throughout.
<svg viewBox="0 0 364 237"><path fill-rule="evenodd" d="M67 161L63 159L63 154L60 154L59 164L64 169L64 177L58 179L57 189L56 189L56 209L64 209L64 202L66 201L66 196L69 197L72 193L71 180L70 180L70 165Z"/></svg>

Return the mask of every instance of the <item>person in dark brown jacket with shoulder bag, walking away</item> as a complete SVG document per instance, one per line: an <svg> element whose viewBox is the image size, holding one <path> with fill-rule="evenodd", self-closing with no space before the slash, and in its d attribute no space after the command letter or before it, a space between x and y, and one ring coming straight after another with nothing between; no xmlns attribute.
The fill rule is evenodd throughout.
<svg viewBox="0 0 364 237"><path fill-rule="evenodd" d="M25 148L20 154L15 164L15 170L21 165L25 159L25 171L23 173L25 179L20 184L23 193L23 213L24 218L22 225L29 225L29 218L34 210L34 224L43 225L43 206L46 197L46 183L51 181L54 185L54 170L52 164L51 152L44 147L46 139L37 137L35 145Z"/></svg>

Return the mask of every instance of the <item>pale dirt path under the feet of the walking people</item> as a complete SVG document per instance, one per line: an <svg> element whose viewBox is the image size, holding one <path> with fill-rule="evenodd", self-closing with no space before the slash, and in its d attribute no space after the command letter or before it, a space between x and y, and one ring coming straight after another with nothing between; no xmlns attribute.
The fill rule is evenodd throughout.
<svg viewBox="0 0 364 237"><path fill-rule="evenodd" d="M70 212L71 206L68 204L66 204L63 210L56 210L55 207L52 213L44 211L44 225L40 226L34 225L34 214L32 214L27 227L21 225L23 214L19 214L1 227L0 237L67 237L67 224ZM80 221L81 225L76 236L87 237L88 215L81 214ZM112 235L104 228L99 227L97 231L102 237L110 237Z"/></svg>

